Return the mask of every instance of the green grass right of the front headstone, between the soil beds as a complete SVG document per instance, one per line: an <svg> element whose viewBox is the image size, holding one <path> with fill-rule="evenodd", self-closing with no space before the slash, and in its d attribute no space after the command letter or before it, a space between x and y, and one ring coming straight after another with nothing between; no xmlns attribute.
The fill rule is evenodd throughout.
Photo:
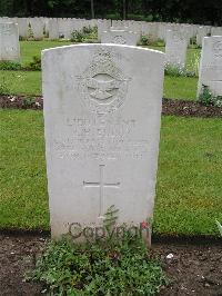
<svg viewBox="0 0 222 296"><path fill-rule="evenodd" d="M222 221L221 119L164 117L155 231L218 234Z"/></svg>

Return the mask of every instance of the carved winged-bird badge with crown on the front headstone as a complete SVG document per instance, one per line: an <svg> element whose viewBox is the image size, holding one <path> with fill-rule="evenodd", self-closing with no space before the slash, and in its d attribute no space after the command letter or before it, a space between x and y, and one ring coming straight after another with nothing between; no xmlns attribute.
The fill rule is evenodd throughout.
<svg viewBox="0 0 222 296"><path fill-rule="evenodd" d="M100 49L79 77L79 90L84 106L98 115L115 111L125 100L129 78L115 66L111 52Z"/></svg>

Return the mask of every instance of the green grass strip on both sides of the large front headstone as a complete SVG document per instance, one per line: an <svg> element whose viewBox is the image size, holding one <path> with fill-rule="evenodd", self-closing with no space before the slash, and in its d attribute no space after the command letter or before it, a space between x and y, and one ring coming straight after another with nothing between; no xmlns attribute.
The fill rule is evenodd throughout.
<svg viewBox="0 0 222 296"><path fill-rule="evenodd" d="M218 235L221 119L163 117L154 231ZM48 229L41 111L0 111L0 228Z"/></svg>

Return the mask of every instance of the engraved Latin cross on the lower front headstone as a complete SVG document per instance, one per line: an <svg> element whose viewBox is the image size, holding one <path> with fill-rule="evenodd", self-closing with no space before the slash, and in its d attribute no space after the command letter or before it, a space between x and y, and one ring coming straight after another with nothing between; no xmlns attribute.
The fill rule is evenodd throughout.
<svg viewBox="0 0 222 296"><path fill-rule="evenodd" d="M83 181L83 186L100 188L100 214L99 216L101 217L104 214L103 213L104 188L105 187L119 188L120 182L104 182L104 165L100 165L100 180L95 182Z"/></svg>

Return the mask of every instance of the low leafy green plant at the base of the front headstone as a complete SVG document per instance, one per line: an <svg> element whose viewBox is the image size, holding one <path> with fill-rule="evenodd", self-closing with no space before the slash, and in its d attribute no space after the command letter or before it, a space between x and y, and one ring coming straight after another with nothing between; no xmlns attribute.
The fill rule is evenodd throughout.
<svg viewBox="0 0 222 296"><path fill-rule="evenodd" d="M48 244L27 280L49 295L157 295L168 279L141 240Z"/></svg>

